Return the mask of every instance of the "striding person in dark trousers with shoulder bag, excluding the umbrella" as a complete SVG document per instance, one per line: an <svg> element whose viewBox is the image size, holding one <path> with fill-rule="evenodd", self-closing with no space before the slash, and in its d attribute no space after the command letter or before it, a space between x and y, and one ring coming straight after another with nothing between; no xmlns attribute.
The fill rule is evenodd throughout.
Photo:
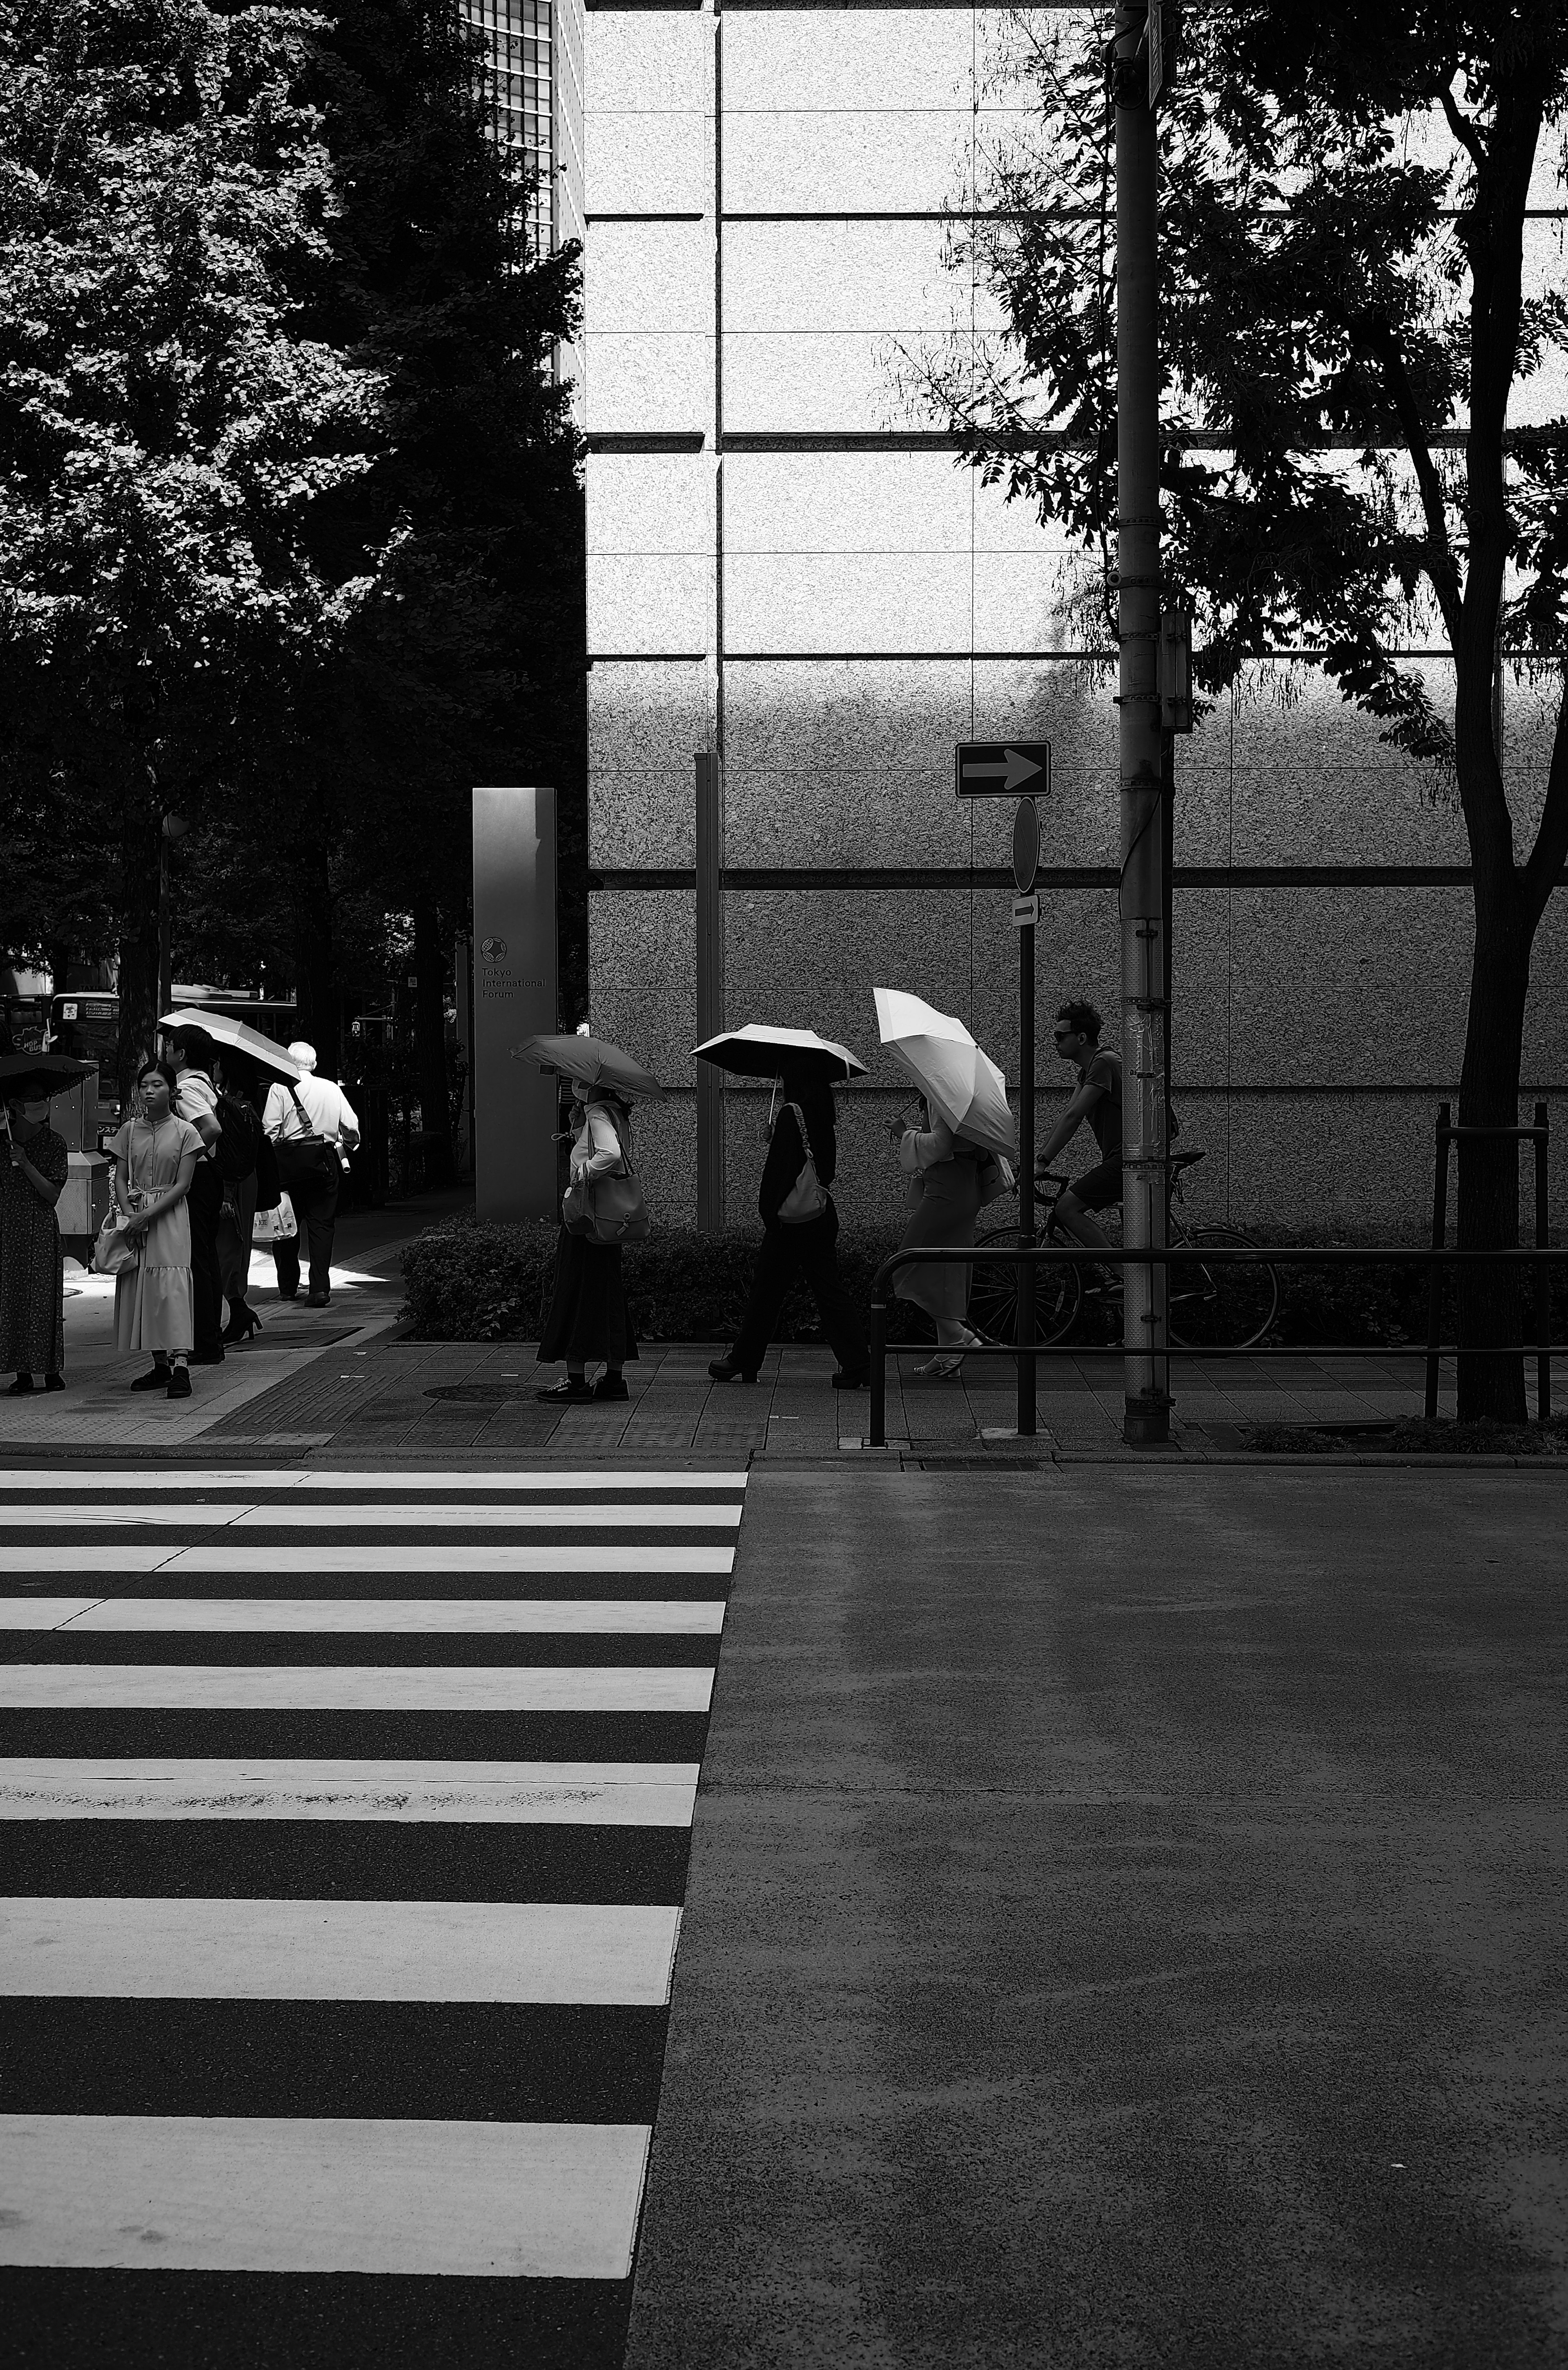
<svg viewBox="0 0 1568 2370"><path fill-rule="evenodd" d="M756 1382L784 1294L805 1275L822 1332L834 1346L836 1391L860 1391L872 1379L865 1327L838 1275L838 1211L827 1190L838 1173L834 1090L820 1064L784 1069L782 1102L770 1121L767 1159L758 1190L763 1249L734 1349L715 1358L715 1382Z"/></svg>

